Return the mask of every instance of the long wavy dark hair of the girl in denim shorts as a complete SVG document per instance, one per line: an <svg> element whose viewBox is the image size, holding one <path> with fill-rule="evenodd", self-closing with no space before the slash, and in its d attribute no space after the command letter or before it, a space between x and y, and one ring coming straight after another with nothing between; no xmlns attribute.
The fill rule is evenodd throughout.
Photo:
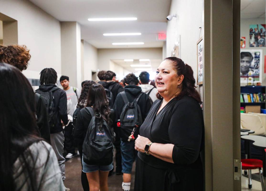
<svg viewBox="0 0 266 191"><path fill-rule="evenodd" d="M110 118L111 110L109 108L109 102L106 97L105 90L101 84L95 83L90 86L86 107L91 106L93 107L96 117L99 119L103 118L109 126L112 124L112 120Z"/></svg>

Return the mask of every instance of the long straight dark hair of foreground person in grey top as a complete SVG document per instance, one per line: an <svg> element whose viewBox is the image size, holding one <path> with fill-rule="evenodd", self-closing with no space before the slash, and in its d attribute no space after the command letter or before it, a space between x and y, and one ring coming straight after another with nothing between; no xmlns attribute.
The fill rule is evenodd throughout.
<svg viewBox="0 0 266 191"><path fill-rule="evenodd" d="M36 132L34 92L17 68L4 63L0 63L0 89L0 188L15 190L13 164L19 159L23 164L21 173L28 175L23 184L38 190L35 164L26 160L34 158L27 148L42 140Z"/></svg>

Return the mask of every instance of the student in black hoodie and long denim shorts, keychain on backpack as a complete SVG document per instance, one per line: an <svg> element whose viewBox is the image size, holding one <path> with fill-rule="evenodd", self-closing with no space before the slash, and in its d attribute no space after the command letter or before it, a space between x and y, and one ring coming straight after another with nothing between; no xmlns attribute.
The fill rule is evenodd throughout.
<svg viewBox="0 0 266 191"><path fill-rule="evenodd" d="M141 91L135 74L130 73L124 78L125 91L117 95L114 103L116 122L121 132L121 154L123 172L123 190L130 190L131 171L137 152L134 140L138 137L139 127L146 118L151 103L149 96ZM119 121L120 120L120 121Z"/></svg>

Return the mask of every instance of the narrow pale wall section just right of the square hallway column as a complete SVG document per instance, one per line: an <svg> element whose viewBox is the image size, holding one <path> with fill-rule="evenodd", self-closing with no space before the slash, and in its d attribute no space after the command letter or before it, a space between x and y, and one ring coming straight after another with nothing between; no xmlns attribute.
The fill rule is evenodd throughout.
<svg viewBox="0 0 266 191"><path fill-rule="evenodd" d="M93 45L89 44L87 41L83 40L84 47L84 80L92 80L92 71L97 72L97 63L98 63L98 55L97 48ZM108 63L106 65L109 65Z"/></svg>

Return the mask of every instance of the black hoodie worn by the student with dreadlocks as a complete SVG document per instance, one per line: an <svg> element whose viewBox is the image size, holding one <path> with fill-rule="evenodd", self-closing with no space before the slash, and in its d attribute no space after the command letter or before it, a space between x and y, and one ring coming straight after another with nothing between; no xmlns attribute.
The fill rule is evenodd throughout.
<svg viewBox="0 0 266 191"><path fill-rule="evenodd" d="M66 93L64 90L57 88L55 84L46 84L39 86L39 90L42 92L48 92L53 91L53 97L54 97L54 104L55 109L57 113L57 123L56 126L50 129L50 133L58 133L63 131L63 126L61 123L61 120L64 124L68 123L68 116L67 116L67 99L66 99Z"/></svg>

